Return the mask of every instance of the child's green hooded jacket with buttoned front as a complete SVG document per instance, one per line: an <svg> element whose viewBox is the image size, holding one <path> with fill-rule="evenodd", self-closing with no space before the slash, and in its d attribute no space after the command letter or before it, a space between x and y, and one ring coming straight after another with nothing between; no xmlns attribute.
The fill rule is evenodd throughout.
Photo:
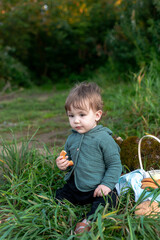
<svg viewBox="0 0 160 240"><path fill-rule="evenodd" d="M65 180L74 173L76 187L82 192L94 190L100 184L113 190L121 175L122 165L120 148L111 135L111 130L102 125L84 134L72 130L65 151L74 165L65 175Z"/></svg>

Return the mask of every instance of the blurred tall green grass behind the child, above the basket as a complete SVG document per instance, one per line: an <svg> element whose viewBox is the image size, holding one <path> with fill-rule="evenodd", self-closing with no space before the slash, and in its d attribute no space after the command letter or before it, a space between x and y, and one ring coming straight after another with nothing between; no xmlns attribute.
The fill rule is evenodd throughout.
<svg viewBox="0 0 160 240"><path fill-rule="evenodd" d="M104 72L95 76L102 87L106 112L102 123L115 135L127 138L141 137L146 132L160 134L160 74L156 64L153 62L148 68L128 76L128 83L106 82Z"/></svg>

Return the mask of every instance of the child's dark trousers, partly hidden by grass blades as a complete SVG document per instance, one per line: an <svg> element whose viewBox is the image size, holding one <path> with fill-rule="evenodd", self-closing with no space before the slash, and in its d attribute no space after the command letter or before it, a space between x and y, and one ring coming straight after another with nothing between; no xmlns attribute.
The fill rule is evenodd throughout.
<svg viewBox="0 0 160 240"><path fill-rule="evenodd" d="M108 203L108 210L116 206L118 196L116 188L114 188L105 199L103 197L93 197L93 194L94 190L89 192L79 191L75 186L74 176L72 175L63 188L56 191L56 199L60 201L67 199L69 202L79 205L92 204L90 212L87 213L87 218L95 213L100 204L105 206L105 204Z"/></svg>

